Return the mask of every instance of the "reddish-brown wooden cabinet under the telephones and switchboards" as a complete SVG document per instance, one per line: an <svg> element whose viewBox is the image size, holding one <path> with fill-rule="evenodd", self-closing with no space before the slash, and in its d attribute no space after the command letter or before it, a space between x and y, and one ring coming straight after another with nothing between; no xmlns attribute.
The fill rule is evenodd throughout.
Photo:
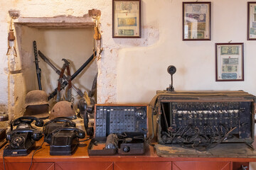
<svg viewBox="0 0 256 170"><path fill-rule="evenodd" d="M36 142L37 146L41 145L43 140ZM174 155L171 157L159 157L154 152L153 147L149 147L146 154L142 156L105 156L105 157L89 157L87 154L87 146L89 141L81 142L80 147L72 156L50 156L50 146L45 142L42 149L38 150L33 157L33 165L31 169L36 170L124 170L124 169L157 169L157 170L230 170L238 169L241 164L248 166L248 162L256 162L256 158L230 158L230 157L180 157ZM0 154L3 155L3 148ZM4 157L6 169L28 169L31 165L31 157L33 152L26 157ZM1 156L2 157L2 156ZM0 169L4 169L3 159L0 161Z"/></svg>

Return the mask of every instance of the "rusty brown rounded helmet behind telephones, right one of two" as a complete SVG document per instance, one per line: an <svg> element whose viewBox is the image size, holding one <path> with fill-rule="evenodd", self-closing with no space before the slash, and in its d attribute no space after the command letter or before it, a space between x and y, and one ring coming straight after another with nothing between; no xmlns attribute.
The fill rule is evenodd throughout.
<svg viewBox="0 0 256 170"><path fill-rule="evenodd" d="M76 118L73 104L68 101L59 101L56 103L50 111L49 119L67 117L74 119Z"/></svg>

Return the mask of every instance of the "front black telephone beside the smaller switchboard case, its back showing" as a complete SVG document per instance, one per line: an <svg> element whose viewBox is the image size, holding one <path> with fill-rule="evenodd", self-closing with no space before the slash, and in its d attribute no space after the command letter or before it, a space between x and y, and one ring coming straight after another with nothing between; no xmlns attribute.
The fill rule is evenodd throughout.
<svg viewBox="0 0 256 170"><path fill-rule="evenodd" d="M78 149L78 138L84 138L85 132L74 127L53 130L50 139L50 155L71 155Z"/></svg>

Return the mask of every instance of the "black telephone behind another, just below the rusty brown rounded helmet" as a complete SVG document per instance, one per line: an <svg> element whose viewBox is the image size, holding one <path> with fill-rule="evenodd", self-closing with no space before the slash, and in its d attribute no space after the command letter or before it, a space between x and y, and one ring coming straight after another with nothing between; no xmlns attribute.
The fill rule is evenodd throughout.
<svg viewBox="0 0 256 170"><path fill-rule="evenodd" d="M55 118L53 120L48 121L43 128L43 133L45 134L45 141L50 144L50 137L52 132L58 128L63 127L74 127L75 123L68 118Z"/></svg>

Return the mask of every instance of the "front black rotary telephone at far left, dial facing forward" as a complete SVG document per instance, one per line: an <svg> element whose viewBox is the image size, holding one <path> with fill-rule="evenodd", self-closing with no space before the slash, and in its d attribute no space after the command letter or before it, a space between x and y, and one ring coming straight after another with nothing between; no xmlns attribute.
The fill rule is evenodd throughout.
<svg viewBox="0 0 256 170"><path fill-rule="evenodd" d="M36 146L36 141L43 137L39 130L22 128L6 134L9 145L4 149L4 156L26 156Z"/></svg>

